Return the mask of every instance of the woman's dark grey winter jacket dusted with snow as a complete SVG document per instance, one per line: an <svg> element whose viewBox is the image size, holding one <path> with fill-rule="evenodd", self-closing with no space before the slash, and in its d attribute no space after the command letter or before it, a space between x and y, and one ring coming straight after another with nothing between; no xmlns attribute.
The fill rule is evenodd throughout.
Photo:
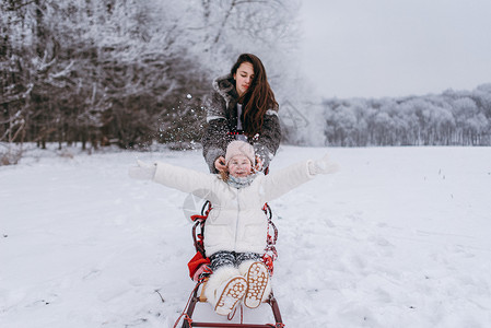
<svg viewBox="0 0 491 328"><path fill-rule="evenodd" d="M220 156L225 156L227 144L237 138L237 98L235 80L229 74L213 81L213 91L204 102L207 127L201 142L203 156L211 173L217 173L214 161ZM269 166L280 141L281 129L278 112L271 108L265 115L259 136L248 140L262 161L264 168Z"/></svg>

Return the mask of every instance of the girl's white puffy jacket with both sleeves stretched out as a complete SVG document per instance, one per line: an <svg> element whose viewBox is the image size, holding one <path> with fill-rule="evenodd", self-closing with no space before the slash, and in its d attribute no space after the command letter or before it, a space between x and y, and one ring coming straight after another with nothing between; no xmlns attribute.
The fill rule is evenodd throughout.
<svg viewBox="0 0 491 328"><path fill-rule="evenodd" d="M157 163L154 181L212 203L204 223L207 256L219 250L264 254L268 219L262 206L309 180L308 161L264 175L248 187L230 186L219 175Z"/></svg>

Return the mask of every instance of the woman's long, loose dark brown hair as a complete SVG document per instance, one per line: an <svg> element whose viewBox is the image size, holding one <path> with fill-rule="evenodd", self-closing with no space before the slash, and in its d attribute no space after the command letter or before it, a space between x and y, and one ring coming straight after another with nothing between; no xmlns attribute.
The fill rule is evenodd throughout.
<svg viewBox="0 0 491 328"><path fill-rule="evenodd" d="M232 67L232 75L237 73L237 69L243 62L250 62L254 68L254 79L249 89L238 99L244 108L244 132L253 138L260 133L265 115L268 109L278 110L279 106L274 99L274 93L268 83L265 67L259 58L252 54L242 54Z"/></svg>

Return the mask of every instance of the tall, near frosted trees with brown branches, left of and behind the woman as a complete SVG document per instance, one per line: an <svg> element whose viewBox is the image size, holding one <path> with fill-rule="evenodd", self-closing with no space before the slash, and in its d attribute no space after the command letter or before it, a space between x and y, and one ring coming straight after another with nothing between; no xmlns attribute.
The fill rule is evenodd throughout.
<svg viewBox="0 0 491 328"><path fill-rule="evenodd" d="M296 8L294 0L1 0L0 148L197 140L202 96L238 54L288 61Z"/></svg>

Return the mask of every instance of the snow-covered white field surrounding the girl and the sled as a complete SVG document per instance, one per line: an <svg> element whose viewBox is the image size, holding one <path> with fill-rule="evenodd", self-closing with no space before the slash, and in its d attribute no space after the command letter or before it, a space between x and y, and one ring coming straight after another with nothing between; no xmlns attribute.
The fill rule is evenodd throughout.
<svg viewBox="0 0 491 328"><path fill-rule="evenodd" d="M491 148L282 147L271 169L326 151L341 172L270 203L287 327L490 327ZM0 167L0 327L172 327L194 288L192 203L127 172L206 172L200 151L40 154ZM267 305L244 319L272 321Z"/></svg>

